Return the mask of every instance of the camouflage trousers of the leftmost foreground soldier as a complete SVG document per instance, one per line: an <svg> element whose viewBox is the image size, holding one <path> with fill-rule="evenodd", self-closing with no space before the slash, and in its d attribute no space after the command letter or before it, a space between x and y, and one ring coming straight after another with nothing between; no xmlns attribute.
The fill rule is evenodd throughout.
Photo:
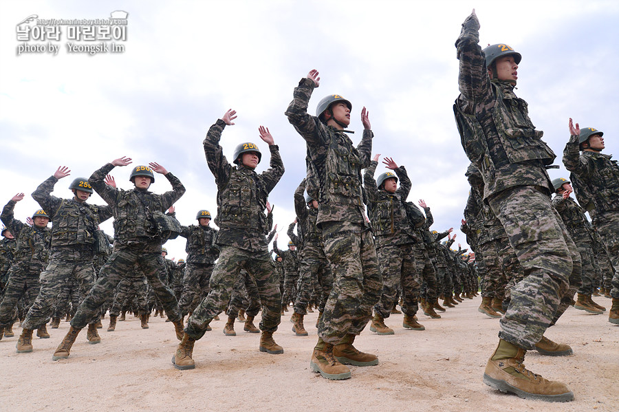
<svg viewBox="0 0 619 412"><path fill-rule="evenodd" d="M17 304L25 301L28 310L41 290L39 275L45 266L42 263L17 262L9 269L9 278L0 303L0 327L9 327L14 323Z"/></svg>

